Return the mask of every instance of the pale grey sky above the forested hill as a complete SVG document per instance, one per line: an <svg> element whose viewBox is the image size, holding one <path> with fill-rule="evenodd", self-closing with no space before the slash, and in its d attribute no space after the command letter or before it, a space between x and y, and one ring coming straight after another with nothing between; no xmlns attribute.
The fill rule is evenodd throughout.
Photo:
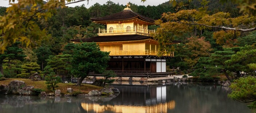
<svg viewBox="0 0 256 113"><path fill-rule="evenodd" d="M69 4L67 6L75 7L75 6L81 6L82 4L84 4L86 8L89 8L92 5L94 5L95 3L99 3L99 4L103 5L103 4L106 4L107 1L109 1L109 0L89 0L89 4L87 4L87 0L86 0L86 1L78 2L78 3ZM166 2L166 1L169 1L169 0L146 0L144 3L141 2L141 0L111 0L111 1L114 2L114 3L119 3L120 5L121 4L126 5L128 2L131 2L131 3L134 3L136 5L144 5L144 6L147 6L147 5L153 6L154 5L154 6L157 6L157 5L162 4L162 3ZM9 7L10 6L9 5L9 0L0 0L0 6Z"/></svg>

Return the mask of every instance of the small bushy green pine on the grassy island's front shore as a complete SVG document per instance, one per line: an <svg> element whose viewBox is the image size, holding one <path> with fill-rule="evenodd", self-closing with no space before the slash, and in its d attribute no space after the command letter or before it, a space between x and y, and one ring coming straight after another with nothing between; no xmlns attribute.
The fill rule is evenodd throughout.
<svg viewBox="0 0 256 113"><path fill-rule="evenodd" d="M59 76L55 76L54 72L50 72L47 76L45 76L45 84L47 84L47 89L48 90L52 90L54 91L55 88L57 88L57 84L61 82L61 78Z"/></svg>

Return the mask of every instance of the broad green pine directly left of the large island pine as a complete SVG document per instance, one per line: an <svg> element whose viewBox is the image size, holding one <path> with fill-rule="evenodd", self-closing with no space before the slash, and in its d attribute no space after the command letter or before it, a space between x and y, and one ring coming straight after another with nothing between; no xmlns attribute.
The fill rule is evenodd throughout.
<svg viewBox="0 0 256 113"><path fill-rule="evenodd" d="M69 75L70 70L72 68L70 64L71 55L65 54L65 55L49 56L49 58L46 61L47 61L47 66L45 66L44 68L45 71L53 70L53 72L57 76Z"/></svg>

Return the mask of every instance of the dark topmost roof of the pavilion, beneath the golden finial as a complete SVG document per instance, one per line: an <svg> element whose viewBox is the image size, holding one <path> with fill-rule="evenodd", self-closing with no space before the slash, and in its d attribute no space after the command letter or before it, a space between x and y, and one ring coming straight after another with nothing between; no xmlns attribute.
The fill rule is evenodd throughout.
<svg viewBox="0 0 256 113"><path fill-rule="evenodd" d="M154 19L139 15L137 13L132 12L131 10L123 10L119 13L112 14L105 17L99 17L99 18L91 18L93 21L113 21L113 20L125 20L125 19L133 19L138 17L139 19L142 19L144 21L148 22L154 22Z"/></svg>

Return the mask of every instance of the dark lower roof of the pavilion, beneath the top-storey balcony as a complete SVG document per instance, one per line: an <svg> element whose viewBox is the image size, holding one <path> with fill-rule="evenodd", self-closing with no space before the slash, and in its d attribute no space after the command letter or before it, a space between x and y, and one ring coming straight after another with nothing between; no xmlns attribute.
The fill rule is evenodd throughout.
<svg viewBox="0 0 256 113"><path fill-rule="evenodd" d="M96 36L91 38L83 38L82 42L115 42L115 41L133 41L133 40L143 40L143 39L153 39L150 36L144 35L114 35L114 36ZM74 42L80 42L80 39L70 39Z"/></svg>

